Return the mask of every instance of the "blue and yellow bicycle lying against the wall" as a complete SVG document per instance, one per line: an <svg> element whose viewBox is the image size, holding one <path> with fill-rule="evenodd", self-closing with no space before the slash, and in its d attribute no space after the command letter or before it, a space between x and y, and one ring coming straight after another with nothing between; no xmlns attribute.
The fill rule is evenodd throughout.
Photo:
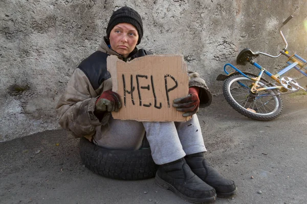
<svg viewBox="0 0 307 204"><path fill-rule="evenodd" d="M240 65L252 64L260 69L258 75L240 71L230 63L225 64L224 71L227 75L220 74L216 78L217 81L224 81L223 94L228 104L242 115L256 120L273 120L282 112L281 95L297 92L299 90L307 90L300 86L297 81L289 77L281 77L282 74L295 68L307 77L307 62L300 56L289 55L288 43L281 32L281 28L289 22L293 16L289 16L279 27L279 34L285 44L285 47L279 50L277 56L272 56L263 52L252 52L251 49L243 49L237 56L236 62ZM276 74L272 74L264 67L257 64L254 59L259 55L271 58L278 58L281 55L288 57L287 67L283 68ZM235 71L229 73L226 67L230 66ZM267 74L272 81L267 81L262 74ZM307 87L307 86L306 86Z"/></svg>

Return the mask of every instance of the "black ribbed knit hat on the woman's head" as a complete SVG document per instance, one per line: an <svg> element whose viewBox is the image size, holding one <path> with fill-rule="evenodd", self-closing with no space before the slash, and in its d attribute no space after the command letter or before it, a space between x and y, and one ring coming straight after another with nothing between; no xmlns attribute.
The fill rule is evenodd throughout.
<svg viewBox="0 0 307 204"><path fill-rule="evenodd" d="M122 22L130 23L131 25L136 27L139 34L137 44L139 44L143 36L143 21L140 14L129 7L122 7L112 14L107 24L106 37L109 38L111 30L115 27L115 25Z"/></svg>

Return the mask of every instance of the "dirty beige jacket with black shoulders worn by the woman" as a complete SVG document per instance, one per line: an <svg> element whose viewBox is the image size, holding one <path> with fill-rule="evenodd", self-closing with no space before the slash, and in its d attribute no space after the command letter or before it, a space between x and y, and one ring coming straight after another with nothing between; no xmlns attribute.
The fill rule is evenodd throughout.
<svg viewBox="0 0 307 204"><path fill-rule="evenodd" d="M75 69L69 80L64 93L61 95L56 106L59 124L63 129L78 137L91 138L94 134L101 135L101 130L107 128L111 113L104 112L95 115L95 103L102 92L112 90L112 79L106 70L106 57L117 55L124 61L130 61L142 57L148 53L144 49L135 48L127 59L109 48L104 38L98 51L83 60ZM189 87L200 88L201 106L209 106L212 96L208 87L200 75L188 71Z"/></svg>

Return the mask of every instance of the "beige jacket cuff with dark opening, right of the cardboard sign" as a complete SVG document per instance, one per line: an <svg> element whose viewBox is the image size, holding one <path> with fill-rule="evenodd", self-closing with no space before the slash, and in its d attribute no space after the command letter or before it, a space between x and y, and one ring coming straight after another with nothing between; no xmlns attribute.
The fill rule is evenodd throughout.
<svg viewBox="0 0 307 204"><path fill-rule="evenodd" d="M212 94L206 85L205 80L200 77L200 74L191 70L188 70L189 75L189 87L196 86L200 88L200 107L210 106L212 102Z"/></svg>

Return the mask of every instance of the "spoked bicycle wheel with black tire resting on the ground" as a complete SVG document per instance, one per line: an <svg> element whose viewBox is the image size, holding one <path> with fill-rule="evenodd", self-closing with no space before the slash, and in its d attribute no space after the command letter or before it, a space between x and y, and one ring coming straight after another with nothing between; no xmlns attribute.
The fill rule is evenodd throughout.
<svg viewBox="0 0 307 204"><path fill-rule="evenodd" d="M237 74L226 79L223 94L228 104L242 115L255 120L273 120L278 117L282 111L280 96L272 89L254 94L250 91L253 83L253 80ZM264 84L266 82L262 79L258 83L260 86ZM264 87L271 86L268 84Z"/></svg>

